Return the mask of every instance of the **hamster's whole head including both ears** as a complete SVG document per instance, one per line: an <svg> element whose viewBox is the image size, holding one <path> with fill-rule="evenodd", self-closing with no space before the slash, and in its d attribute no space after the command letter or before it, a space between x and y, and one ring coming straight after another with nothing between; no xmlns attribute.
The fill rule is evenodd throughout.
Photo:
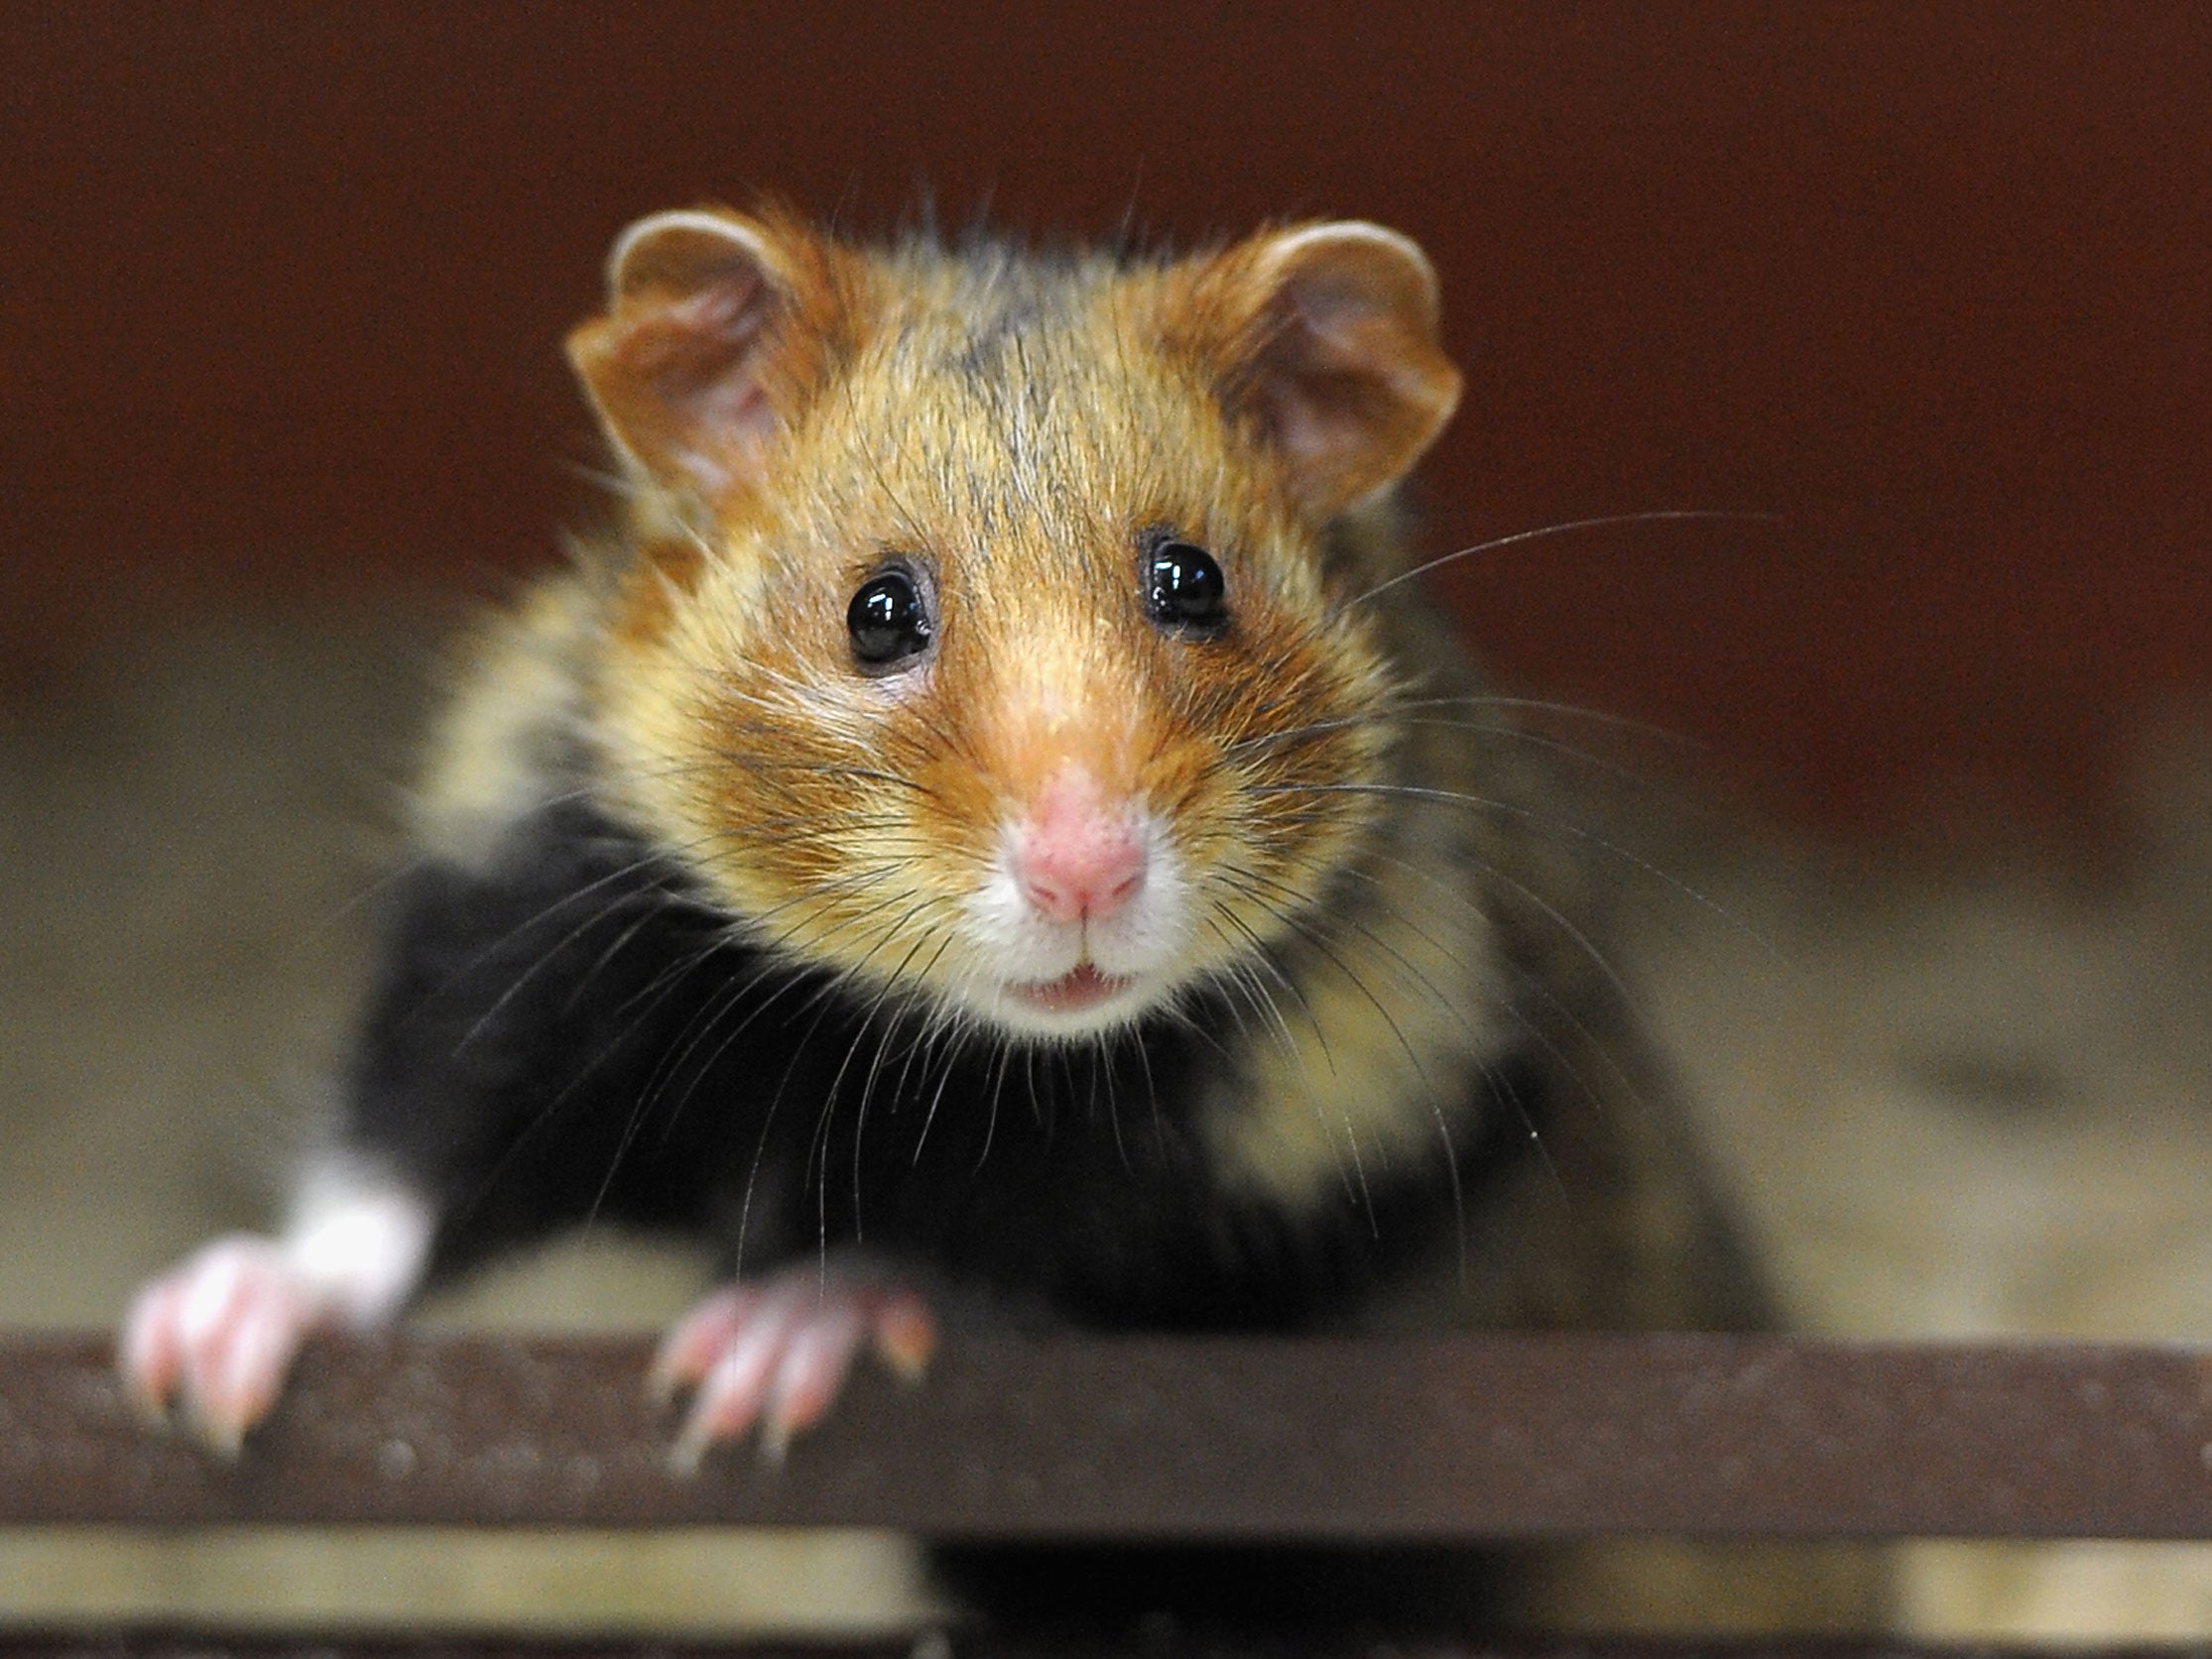
<svg viewBox="0 0 2212 1659"><path fill-rule="evenodd" d="M1460 385L1420 250L670 212L611 288L571 356L639 493L593 692L617 810L741 933L960 1029L1263 991L1378 812L1356 599Z"/></svg>

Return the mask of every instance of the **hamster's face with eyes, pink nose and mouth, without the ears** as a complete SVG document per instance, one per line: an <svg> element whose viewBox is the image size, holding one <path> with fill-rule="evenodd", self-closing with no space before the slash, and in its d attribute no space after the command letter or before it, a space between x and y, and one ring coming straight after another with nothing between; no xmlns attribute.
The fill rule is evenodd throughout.
<svg viewBox="0 0 2212 1659"><path fill-rule="evenodd" d="M615 787L863 995L1079 1040L1312 931L1389 666L1172 268L907 254L759 482L630 580Z"/></svg>

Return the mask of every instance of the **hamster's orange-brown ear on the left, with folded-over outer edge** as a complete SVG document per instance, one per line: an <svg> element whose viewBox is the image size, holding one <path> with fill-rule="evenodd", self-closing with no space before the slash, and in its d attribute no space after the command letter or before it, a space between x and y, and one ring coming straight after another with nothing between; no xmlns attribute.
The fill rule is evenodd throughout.
<svg viewBox="0 0 2212 1659"><path fill-rule="evenodd" d="M608 312L568 361L624 456L712 504L759 478L814 385L838 252L796 221L688 210L639 219L606 261Z"/></svg>

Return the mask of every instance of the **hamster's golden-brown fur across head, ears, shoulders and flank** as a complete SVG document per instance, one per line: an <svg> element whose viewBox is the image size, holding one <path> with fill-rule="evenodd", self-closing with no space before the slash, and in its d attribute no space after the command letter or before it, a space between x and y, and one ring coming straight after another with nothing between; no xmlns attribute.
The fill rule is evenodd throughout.
<svg viewBox="0 0 2212 1659"><path fill-rule="evenodd" d="M635 462L633 544L533 595L449 723L462 750L495 732L509 772L518 717L467 710L568 743L526 745L566 759L498 794L586 787L743 929L927 1004L980 971L947 918L995 827L1075 757L1175 823L1208 907L1181 967L1245 984L1248 1086L1208 1115L1223 1179L1336 1201L1471 1137L1462 1102L1533 1042L1579 1099L1464 1219L1451 1316L1754 1316L1593 962L1573 807L1418 593L1367 599L1405 568L1378 489L1458 392L1409 246L1354 239L1323 274L1380 310L1321 283L1294 292L1316 323L1283 279L1310 230L1121 263L670 219L617 250L617 303L571 343ZM717 276L723 234L768 288ZM717 281L761 314L686 356ZM712 389L728 374L757 403ZM1225 639L1135 606L1150 524L1234 553ZM887 553L942 615L922 675L847 659L845 599Z"/></svg>

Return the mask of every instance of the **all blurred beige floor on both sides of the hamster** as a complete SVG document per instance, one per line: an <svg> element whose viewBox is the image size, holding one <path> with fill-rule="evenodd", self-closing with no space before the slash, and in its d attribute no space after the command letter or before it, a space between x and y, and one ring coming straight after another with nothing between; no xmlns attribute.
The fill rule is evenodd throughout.
<svg viewBox="0 0 2212 1659"><path fill-rule="evenodd" d="M115 1321L265 1217L343 1040L434 628L179 624L0 706L0 1323ZM2132 863L1867 867L1655 832L1624 967L1792 1314L1867 1336L2212 1336L2212 743ZM1710 905L1688 889L1710 896ZM586 1241L434 1316L655 1327L699 1263ZM0 1533L0 1619L730 1628L914 1617L889 1537ZM1940 1635L2212 1635L2212 1553L1918 1546Z"/></svg>

